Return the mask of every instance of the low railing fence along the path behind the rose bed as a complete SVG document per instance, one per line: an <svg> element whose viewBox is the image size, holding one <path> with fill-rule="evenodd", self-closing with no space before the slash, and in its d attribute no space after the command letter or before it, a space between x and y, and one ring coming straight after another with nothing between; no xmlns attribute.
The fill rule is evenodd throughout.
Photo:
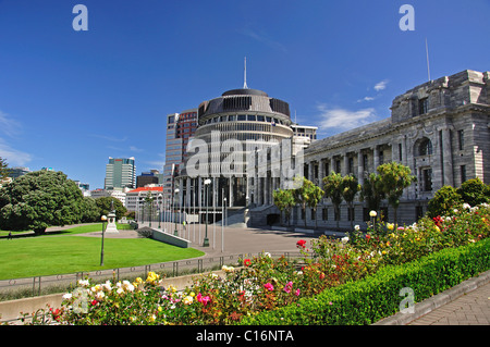
<svg viewBox="0 0 490 347"><path fill-rule="evenodd" d="M150 271L164 275L166 277L176 277L183 274L203 273L210 270L221 269L223 265L237 264L240 259L253 258L260 253L240 253L219 257L206 257L186 259L179 261L161 262L131 268L118 268L112 270L98 270L94 272L76 272L72 274L57 274L49 276L35 276L15 280L0 281L0 300L14 299L21 297L35 297L49 293L66 292L70 287L76 287L78 280L90 277L95 282L107 280L122 281L144 277ZM271 253L271 257L285 257L286 259L303 258L301 252Z"/></svg>

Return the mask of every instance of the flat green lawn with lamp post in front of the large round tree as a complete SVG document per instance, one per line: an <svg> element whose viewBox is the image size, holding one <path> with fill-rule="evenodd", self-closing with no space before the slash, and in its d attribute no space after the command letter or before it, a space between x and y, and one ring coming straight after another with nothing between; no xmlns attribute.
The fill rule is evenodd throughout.
<svg viewBox="0 0 490 347"><path fill-rule="evenodd" d="M100 238L71 235L101 231L99 226L79 226L56 235L0 239L0 280L136 267L204 256L193 248L170 246L149 238L106 238L105 267L100 267Z"/></svg>

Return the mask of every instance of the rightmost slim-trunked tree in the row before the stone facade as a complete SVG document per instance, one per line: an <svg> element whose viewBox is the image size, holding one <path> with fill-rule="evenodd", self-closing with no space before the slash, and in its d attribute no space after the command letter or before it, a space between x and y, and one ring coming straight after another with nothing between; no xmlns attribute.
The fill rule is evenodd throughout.
<svg viewBox="0 0 490 347"><path fill-rule="evenodd" d="M397 162L390 162L379 165L377 170L381 177L382 189L388 197L388 203L393 207L394 223L396 225L396 211L400 206L400 198L403 195L403 190L413 182L416 182L417 177L412 175L412 171L408 166L402 165Z"/></svg>

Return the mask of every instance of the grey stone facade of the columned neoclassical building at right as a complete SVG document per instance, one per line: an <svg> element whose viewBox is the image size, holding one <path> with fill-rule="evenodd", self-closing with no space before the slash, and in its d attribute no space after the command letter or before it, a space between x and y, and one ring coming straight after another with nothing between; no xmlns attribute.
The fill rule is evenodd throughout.
<svg viewBox="0 0 490 347"><path fill-rule="evenodd" d="M427 210L428 200L443 185L460 187L479 177L490 184L490 72L463 71L419 85L393 100L391 117L314 141L304 150L305 176L321 186L330 172L364 177L382 163L396 161L409 166L417 183L408 187L399 208L399 223L413 223ZM257 168L257 170L259 170ZM254 224L264 224L265 215L279 213L271 191L280 178L264 179L267 196L252 210ZM277 181L279 179L279 182ZM393 211L384 202L388 220ZM368 211L355 202L355 224L364 227ZM316 215L293 213L293 223L333 227L333 206L323 199ZM351 225L345 205L340 226Z"/></svg>

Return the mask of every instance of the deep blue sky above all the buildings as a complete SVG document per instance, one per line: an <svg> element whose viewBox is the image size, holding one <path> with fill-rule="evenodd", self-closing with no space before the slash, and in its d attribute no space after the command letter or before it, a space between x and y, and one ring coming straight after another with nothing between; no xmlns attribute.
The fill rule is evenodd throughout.
<svg viewBox="0 0 490 347"><path fill-rule="evenodd" d="M0 0L0 157L93 189L108 157L161 170L166 115L242 87L244 57L248 87L333 135L427 82L426 38L432 79L490 70L489 13L489 0Z"/></svg>

